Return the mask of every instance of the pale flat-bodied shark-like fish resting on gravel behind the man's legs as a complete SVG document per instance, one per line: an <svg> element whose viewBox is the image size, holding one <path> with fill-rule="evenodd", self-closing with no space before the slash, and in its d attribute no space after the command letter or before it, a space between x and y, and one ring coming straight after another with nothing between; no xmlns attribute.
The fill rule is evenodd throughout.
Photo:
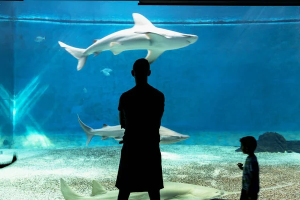
<svg viewBox="0 0 300 200"><path fill-rule="evenodd" d="M163 182L163 185L164 188L160 190L160 199L165 200L209 200L229 194L240 193L240 191L229 192L222 189L179 182ZM60 190L65 200L115 200L118 195L118 190L107 191L96 180L92 180L92 191L90 196L82 196L76 193L62 178L60 178ZM149 200L150 198L148 192L132 192L130 193L128 200L133 199Z"/></svg>

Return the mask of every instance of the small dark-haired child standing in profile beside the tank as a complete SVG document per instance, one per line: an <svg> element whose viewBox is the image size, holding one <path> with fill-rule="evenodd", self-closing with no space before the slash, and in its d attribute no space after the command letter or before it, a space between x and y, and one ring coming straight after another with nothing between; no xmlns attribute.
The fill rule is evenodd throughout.
<svg viewBox="0 0 300 200"><path fill-rule="evenodd" d="M239 141L241 151L248 154L244 165L237 163L237 166L242 170L240 200L256 200L259 191L259 166L254 155L257 142L252 136L242 137Z"/></svg>

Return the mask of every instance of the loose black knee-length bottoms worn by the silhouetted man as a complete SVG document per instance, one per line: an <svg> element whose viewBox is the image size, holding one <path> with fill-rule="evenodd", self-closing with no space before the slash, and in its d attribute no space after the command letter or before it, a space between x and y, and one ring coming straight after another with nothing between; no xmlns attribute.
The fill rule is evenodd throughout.
<svg viewBox="0 0 300 200"><path fill-rule="evenodd" d="M128 192L157 191L163 188L159 143L123 143L115 186Z"/></svg>

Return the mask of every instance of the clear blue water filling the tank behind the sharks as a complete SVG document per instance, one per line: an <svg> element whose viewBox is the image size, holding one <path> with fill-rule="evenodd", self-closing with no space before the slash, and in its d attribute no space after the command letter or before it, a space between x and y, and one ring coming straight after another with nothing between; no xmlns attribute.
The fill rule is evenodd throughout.
<svg viewBox="0 0 300 200"><path fill-rule="evenodd" d="M76 145L74 133L82 134L84 144L77 113L93 128L118 124L119 96L134 86L132 64L147 51L104 51L77 71L77 60L57 41L86 48L93 39L130 28L133 12L157 27L199 37L151 64L149 83L165 95L162 125L191 135L181 143L239 145L239 137L257 138L264 131L289 132L284 136L300 140L299 10L0 1L0 145L3 138L30 134L51 138L54 145L60 134ZM38 43L36 36L46 39ZM104 68L112 69L109 76ZM101 142L106 141L93 145Z"/></svg>

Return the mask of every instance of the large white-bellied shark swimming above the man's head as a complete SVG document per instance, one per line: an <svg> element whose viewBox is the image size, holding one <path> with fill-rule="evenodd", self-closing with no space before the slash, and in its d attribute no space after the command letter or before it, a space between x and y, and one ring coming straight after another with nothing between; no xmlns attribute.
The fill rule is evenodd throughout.
<svg viewBox="0 0 300 200"><path fill-rule="evenodd" d="M133 27L119 30L101 39L94 39L93 44L86 49L75 48L61 41L58 43L78 59L77 70L80 70L84 66L87 56L93 53L96 56L102 51L110 50L117 55L125 50L146 49L148 50L146 59L151 64L164 51L188 46L198 39L197 35L155 27L141 14L132 13L132 17Z"/></svg>

